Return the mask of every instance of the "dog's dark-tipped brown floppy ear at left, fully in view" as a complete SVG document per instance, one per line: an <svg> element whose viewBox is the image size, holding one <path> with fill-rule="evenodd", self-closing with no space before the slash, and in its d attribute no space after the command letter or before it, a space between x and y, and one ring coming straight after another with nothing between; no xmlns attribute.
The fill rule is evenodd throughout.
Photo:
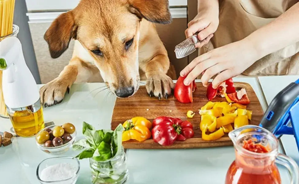
<svg viewBox="0 0 299 184"><path fill-rule="evenodd" d="M58 58L66 51L70 40L76 38L76 32L77 26L72 11L62 13L52 22L44 35L52 58Z"/></svg>

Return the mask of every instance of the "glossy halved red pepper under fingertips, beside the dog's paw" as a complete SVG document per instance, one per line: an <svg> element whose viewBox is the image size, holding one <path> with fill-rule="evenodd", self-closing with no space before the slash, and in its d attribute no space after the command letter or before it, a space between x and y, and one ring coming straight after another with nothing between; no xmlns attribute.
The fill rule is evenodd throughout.
<svg viewBox="0 0 299 184"><path fill-rule="evenodd" d="M181 103L191 103L193 102L193 92L196 90L195 80L191 82L188 86L185 86L184 79L187 77L179 77L176 81L176 86L174 87L174 97Z"/></svg>

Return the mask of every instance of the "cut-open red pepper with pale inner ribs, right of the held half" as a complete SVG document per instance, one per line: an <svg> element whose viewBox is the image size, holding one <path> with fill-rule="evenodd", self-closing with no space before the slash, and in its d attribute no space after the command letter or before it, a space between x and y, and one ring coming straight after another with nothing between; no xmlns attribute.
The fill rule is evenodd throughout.
<svg viewBox="0 0 299 184"><path fill-rule="evenodd" d="M212 86L212 82L209 84L209 86L206 89L206 97L208 98L209 101L211 101L212 99L214 99L216 97L216 95L220 96L220 97L225 97L225 93L226 94L230 94L230 93L235 93L236 92L236 88L234 86L233 83L233 79L227 79L226 81L222 82L217 89L214 89Z"/></svg>

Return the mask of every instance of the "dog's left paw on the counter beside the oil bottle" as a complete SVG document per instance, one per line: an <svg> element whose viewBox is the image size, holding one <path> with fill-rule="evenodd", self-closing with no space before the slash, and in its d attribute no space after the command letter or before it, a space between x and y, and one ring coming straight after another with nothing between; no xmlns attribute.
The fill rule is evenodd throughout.
<svg viewBox="0 0 299 184"><path fill-rule="evenodd" d="M70 85L62 80L54 79L40 88L40 100L44 107L62 102L64 95L70 93Z"/></svg>

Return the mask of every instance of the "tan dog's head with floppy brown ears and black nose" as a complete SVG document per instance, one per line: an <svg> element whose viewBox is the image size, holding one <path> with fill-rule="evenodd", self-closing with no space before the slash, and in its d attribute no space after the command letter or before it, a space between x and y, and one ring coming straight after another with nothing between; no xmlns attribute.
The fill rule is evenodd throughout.
<svg viewBox="0 0 299 184"><path fill-rule="evenodd" d="M93 57L102 78L118 97L139 87L138 41L142 18L171 22L168 0L81 0L57 17L44 35L52 58L59 57L71 39Z"/></svg>

